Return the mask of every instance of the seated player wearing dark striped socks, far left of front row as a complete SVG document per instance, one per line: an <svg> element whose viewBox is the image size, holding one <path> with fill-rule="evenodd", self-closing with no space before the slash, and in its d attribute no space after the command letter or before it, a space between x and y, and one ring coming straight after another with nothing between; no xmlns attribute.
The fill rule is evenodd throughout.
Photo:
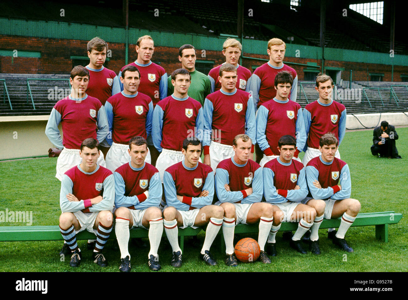
<svg viewBox="0 0 408 300"><path fill-rule="evenodd" d="M97 164L100 146L93 138L81 144L82 162L62 176L60 206L60 231L65 240L64 247L72 251L71 267L81 263L81 250L76 242L76 233L88 230L96 235L93 262L106 267L102 249L112 231L112 209L115 202L115 181L108 169Z"/></svg>

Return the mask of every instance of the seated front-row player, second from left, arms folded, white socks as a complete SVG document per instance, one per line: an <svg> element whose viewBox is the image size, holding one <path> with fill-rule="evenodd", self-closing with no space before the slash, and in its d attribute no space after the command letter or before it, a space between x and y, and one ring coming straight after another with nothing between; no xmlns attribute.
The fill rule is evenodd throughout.
<svg viewBox="0 0 408 300"><path fill-rule="evenodd" d="M148 265L153 271L161 269L157 250L163 234L162 184L159 171L145 162L147 141L135 136L129 141L131 161L116 169L115 177L115 234L120 249L119 270L131 270L128 250L129 229L142 227L149 230L150 251Z"/></svg>

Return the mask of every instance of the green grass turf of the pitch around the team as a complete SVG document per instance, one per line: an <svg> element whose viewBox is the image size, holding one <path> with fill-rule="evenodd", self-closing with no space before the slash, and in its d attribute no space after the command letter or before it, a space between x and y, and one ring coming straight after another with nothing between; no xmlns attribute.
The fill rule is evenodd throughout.
<svg viewBox="0 0 408 300"><path fill-rule="evenodd" d="M219 240L215 240L211 252L218 261L215 267L206 266L198 258L200 248L184 245L183 266L169 266L171 248L162 239L159 248L162 271L407 271L408 232L406 230L406 195L408 169L408 127L399 128L397 148L402 160L375 158L370 153L372 131L350 131L339 149L352 178L351 197L361 202L361 212L396 211L404 217L388 229L389 242L375 239L375 227L351 227L346 238L355 250L344 253L335 248L326 238L326 229L319 231L322 254L314 256L295 252L277 234L278 256L272 264L260 262L226 267ZM302 153L300 155L302 157ZM0 211L33 211L33 225L57 225L61 213L59 206L60 182L54 177L56 158L38 158L0 162ZM18 226L25 223L0 223L0 226ZM244 238L246 236L240 236ZM257 235L250 235L257 239ZM204 240L204 233L199 234ZM145 240L149 244L148 240ZM79 241L82 263L79 268L69 267L69 258L61 261L58 252L62 241L56 242L1 242L0 271L118 271L120 251L115 240L109 240L104 251L109 266L102 269L91 260L91 251L86 250L86 241ZM148 248L129 246L132 271L149 271ZM12 262L12 263L10 263Z"/></svg>

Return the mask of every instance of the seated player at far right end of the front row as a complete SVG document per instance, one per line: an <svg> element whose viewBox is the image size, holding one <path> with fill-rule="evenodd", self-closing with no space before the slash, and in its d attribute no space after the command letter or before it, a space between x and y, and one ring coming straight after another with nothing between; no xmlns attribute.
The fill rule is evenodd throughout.
<svg viewBox="0 0 408 300"><path fill-rule="evenodd" d="M312 197L326 202L324 218L341 217L339 230L329 232L328 237L344 251L353 252L344 236L357 217L361 204L358 200L350 198L350 170L346 162L335 157L338 145L339 142L333 133L326 133L320 138L319 150L322 155L308 162L306 178ZM308 204L308 201L304 203Z"/></svg>

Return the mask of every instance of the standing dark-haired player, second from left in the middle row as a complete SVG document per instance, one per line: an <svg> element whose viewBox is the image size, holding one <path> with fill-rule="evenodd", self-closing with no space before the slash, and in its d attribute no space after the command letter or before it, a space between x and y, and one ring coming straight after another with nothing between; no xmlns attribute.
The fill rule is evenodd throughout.
<svg viewBox="0 0 408 300"><path fill-rule="evenodd" d="M137 91L140 72L134 66L123 69L120 81L124 90L110 97L105 104L109 132L112 138L106 142L112 147L106 155L106 166L114 172L122 164L130 162L129 140L133 136L145 139L151 136L153 119L153 102L149 96ZM150 152L146 152L146 162L150 164Z"/></svg>

